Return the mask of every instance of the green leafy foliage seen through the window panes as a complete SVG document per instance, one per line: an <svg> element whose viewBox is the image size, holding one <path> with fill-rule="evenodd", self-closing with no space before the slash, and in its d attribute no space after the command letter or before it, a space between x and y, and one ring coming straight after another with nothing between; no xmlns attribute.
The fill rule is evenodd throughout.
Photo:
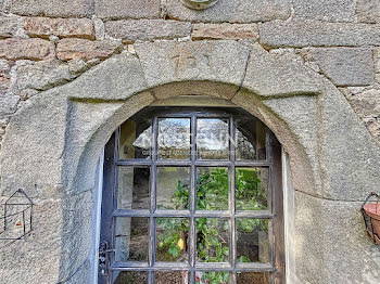
<svg viewBox="0 0 380 284"><path fill-rule="evenodd" d="M227 210L228 209L228 171L224 168L214 168L202 171L198 177L197 209L198 210ZM177 189L172 196L175 209L189 209L189 185L178 181ZM236 201L237 208L243 210L266 209L267 194L261 189L261 179L254 168L236 170ZM187 219L159 218L165 233L160 234L160 247L176 259L180 255L178 240L187 235L189 224ZM250 233L255 229L264 229L264 220L238 218L237 228L240 232ZM203 262L224 262L229 255L228 220L223 218L197 219L197 248L198 257ZM183 248L186 250L186 248ZM246 256L241 256L239 262L251 262ZM228 283L226 272L206 272L202 279L207 283Z"/></svg>

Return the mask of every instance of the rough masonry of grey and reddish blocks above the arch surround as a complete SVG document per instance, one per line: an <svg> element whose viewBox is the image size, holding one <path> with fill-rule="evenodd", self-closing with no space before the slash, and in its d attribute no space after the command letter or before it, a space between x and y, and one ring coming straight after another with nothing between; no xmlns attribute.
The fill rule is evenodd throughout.
<svg viewBox="0 0 380 284"><path fill-rule="evenodd" d="M0 2L0 141L39 92L74 80L138 41L246 40L296 53L340 88L380 141L377 0L220 0L199 12L177 0Z"/></svg>

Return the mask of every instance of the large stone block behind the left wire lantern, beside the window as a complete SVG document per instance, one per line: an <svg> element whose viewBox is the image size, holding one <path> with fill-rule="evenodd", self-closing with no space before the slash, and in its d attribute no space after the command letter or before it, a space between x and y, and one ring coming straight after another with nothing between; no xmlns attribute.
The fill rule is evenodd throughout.
<svg viewBox="0 0 380 284"><path fill-rule="evenodd" d="M73 275L80 261L83 263L89 257L91 248L91 197L87 192L64 199L34 198L34 230L27 241L8 243L2 247L0 260L4 263L0 269L0 282L60 283ZM0 241L0 246L5 244ZM20 256L17 268L23 273L14 273L14 262L5 261L15 256ZM43 266L36 267L39 262Z"/></svg>

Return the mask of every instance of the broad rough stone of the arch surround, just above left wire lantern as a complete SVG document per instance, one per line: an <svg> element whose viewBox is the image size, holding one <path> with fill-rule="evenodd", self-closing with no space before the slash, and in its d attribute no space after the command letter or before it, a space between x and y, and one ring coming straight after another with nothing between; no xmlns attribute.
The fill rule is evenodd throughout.
<svg viewBox="0 0 380 284"><path fill-rule="evenodd" d="M68 105L67 98L56 89L27 100L12 117L0 153L2 194L12 194L14 188L21 188L34 197L60 196L66 128L62 114L67 113ZM20 163L23 156L29 158Z"/></svg>

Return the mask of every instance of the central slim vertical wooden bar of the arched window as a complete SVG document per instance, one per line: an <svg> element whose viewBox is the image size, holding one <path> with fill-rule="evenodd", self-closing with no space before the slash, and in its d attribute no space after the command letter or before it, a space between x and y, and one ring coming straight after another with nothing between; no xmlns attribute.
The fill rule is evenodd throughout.
<svg viewBox="0 0 380 284"><path fill-rule="evenodd" d="M190 196L189 196L189 210L190 210L190 223L189 223L189 284L195 283L195 253L197 253L197 220L194 212L197 210L197 117L191 116L190 121L190 160L191 160L191 184L190 184Z"/></svg>

